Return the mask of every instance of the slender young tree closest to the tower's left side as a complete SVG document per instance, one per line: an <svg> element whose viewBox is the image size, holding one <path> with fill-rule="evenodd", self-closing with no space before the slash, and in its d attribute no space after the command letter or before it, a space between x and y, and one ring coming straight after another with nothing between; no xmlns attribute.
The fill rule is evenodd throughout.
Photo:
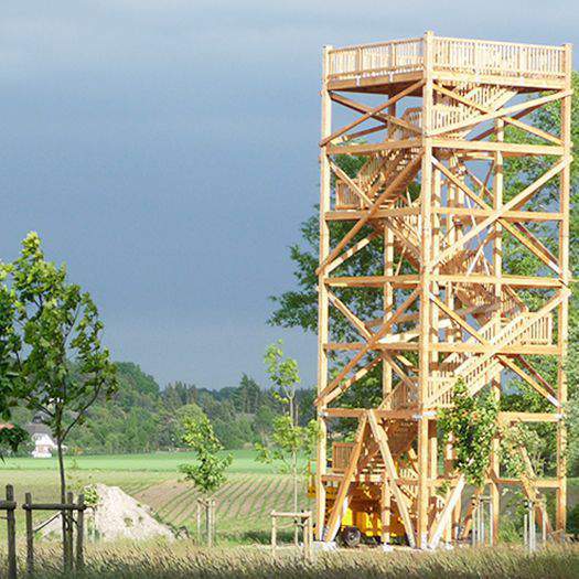
<svg viewBox="0 0 579 579"><path fill-rule="evenodd" d="M286 358L281 340L267 347L264 361L267 373L272 383L277 399L285 405L287 411L274 419L272 432L269 440L257 443L257 460L260 462L281 463L281 469L291 473L293 481L293 512L298 511L298 484L302 470L299 468L301 453L311 453L315 441L317 423L311 420L308 426L298 426L296 415L296 389L300 383L298 363L293 358ZM296 529L297 532L297 529Z"/></svg>

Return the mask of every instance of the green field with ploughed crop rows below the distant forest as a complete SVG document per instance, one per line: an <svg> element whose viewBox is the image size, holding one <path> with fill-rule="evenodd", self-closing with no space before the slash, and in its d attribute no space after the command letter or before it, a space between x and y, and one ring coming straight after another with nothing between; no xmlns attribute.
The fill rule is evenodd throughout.
<svg viewBox="0 0 579 579"><path fill-rule="evenodd" d="M291 507L291 478L274 467L255 461L250 450L234 451L227 483L219 489L217 530L223 543L267 542L269 512ZM149 505L159 518L175 527L194 530L196 493L178 473L178 465L192 461L187 452L67 458L72 490L89 483L120 486ZM0 489L13 484L17 500L32 493L34 501L55 501L58 496L55 459L17 458L0 463ZM300 506L308 507L304 485ZM23 516L18 526L22 527ZM0 534L3 533L0 525Z"/></svg>

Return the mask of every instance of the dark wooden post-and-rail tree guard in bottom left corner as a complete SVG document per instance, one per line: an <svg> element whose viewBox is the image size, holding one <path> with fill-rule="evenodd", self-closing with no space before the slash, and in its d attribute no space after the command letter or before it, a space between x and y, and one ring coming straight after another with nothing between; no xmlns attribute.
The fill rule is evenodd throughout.
<svg viewBox="0 0 579 579"><path fill-rule="evenodd" d="M74 502L73 493L67 493L65 503L33 503L32 494L24 495L22 508L25 514L26 528L26 575L34 575L34 535L49 525L52 521L62 518L62 545L63 545L63 569L81 571L84 568L84 525L85 525L85 500L79 494ZM11 484L6 487L6 501L0 501L0 512L6 512L3 517L7 522L8 550L7 550L7 577L18 577L17 557L17 513L18 503L14 500L14 489ZM43 521L34 528L34 511L54 511L55 514ZM75 517L76 514L76 517ZM74 549L76 527L76 553Z"/></svg>

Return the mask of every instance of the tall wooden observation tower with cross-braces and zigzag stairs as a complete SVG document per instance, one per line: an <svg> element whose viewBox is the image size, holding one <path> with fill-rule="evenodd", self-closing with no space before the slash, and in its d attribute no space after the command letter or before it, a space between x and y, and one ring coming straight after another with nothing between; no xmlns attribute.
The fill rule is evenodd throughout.
<svg viewBox="0 0 579 579"><path fill-rule="evenodd" d="M549 479L535 476L524 449L527 471L506 479L500 440L494 442L487 482L494 537L502 485L521 484L538 505L539 519L548 515L538 496L553 490L556 516L546 524L551 533L565 528L561 360L570 282L570 95L567 44L428 32L412 40L324 49L318 540L334 539L361 489L366 502L374 502L368 508L379 505L383 542L390 539L394 517L408 543L421 548L468 535L472 507L465 506L467 491L472 490L462 476L451 475L452 444L438 448L437 439L437 411L450 404L459 377L473 396L491 388L497 397L506 377L517 377L548 401L549 411L501 412L500 420L551 422L557 438L557 475ZM560 111L558 135L529 121L532 111L546 106ZM332 126L334 108L340 122ZM346 111L353 120L344 120ZM527 138L510 142L510 126ZM339 156L364 162L349 174ZM510 158L534 160L542 170L506 196L503 167ZM528 207L546 192L550 197L540 211L536 203ZM334 238L332 222L342 222L340 230L347 233ZM558 247L547 247L537 233L542 226L557 232ZM506 243L538 260L539 275L510 274L503 267ZM380 262L366 275L344 275L350 260L376 244L383 244ZM358 311L367 291L379 292L383 303L372 319ZM529 293L533 300L525 299ZM334 337L339 317L347 320L354 340ZM557 362L556 384L535 368L536 356ZM380 375L379 403L341 406L350 387L371 373ZM331 449L330 425L340 418L356 419L356 435L353 442L332 438ZM475 505L483 490L473 492Z"/></svg>

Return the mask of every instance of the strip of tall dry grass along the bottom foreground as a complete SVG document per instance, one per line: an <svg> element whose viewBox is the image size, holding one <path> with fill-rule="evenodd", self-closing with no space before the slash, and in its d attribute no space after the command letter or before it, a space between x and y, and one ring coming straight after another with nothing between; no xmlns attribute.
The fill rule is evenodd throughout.
<svg viewBox="0 0 579 579"><path fill-rule="evenodd" d="M42 578L63 577L60 551L41 547L36 557L36 571L37 577ZM308 564L291 551L282 551L274 560L265 548L204 549L189 542L171 545L132 543L89 547L85 573L69 577L558 579L579 577L579 547L553 546L532 555L522 548L507 547L457 548L436 553L398 550L388 554L377 549L351 550L318 553L315 560Z"/></svg>

